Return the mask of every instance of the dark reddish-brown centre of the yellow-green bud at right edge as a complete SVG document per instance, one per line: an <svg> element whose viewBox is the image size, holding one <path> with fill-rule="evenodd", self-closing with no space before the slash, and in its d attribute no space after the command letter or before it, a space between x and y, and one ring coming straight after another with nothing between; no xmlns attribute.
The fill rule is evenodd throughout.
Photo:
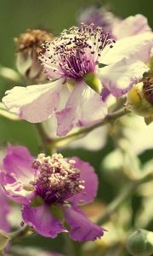
<svg viewBox="0 0 153 256"><path fill-rule="evenodd" d="M153 105L153 78L144 81L143 91L145 99Z"/></svg>

